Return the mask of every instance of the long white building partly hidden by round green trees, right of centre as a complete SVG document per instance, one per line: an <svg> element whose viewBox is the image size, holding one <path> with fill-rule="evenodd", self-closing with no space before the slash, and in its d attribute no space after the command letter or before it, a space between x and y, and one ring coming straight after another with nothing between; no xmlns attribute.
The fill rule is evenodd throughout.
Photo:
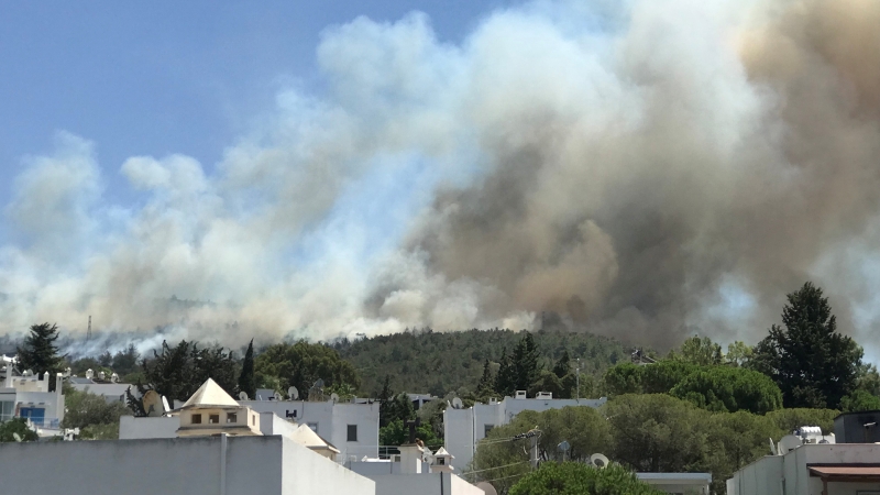
<svg viewBox="0 0 880 495"><path fill-rule="evenodd" d="M566 406L600 407L607 398L600 399L554 399L549 393L539 393L527 398L525 391L517 391L516 397L504 400L490 399L488 404L474 404L470 408L447 407L443 411L444 447L455 457L461 466L468 466L473 459L476 444L496 426L507 425L514 416L524 410L544 411Z"/></svg>

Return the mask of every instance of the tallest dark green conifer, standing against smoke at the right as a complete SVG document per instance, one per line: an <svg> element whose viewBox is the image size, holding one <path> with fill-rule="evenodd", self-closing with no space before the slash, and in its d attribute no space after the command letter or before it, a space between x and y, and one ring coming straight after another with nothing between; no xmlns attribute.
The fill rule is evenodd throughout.
<svg viewBox="0 0 880 495"><path fill-rule="evenodd" d="M782 324L755 348L749 366L782 389L785 407L838 408L857 385L862 351L837 332L828 298L811 283L788 295Z"/></svg>

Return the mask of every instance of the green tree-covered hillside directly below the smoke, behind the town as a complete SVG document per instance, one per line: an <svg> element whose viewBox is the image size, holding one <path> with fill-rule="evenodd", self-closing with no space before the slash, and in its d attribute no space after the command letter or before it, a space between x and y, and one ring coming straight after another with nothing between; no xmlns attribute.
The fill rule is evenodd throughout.
<svg viewBox="0 0 880 495"><path fill-rule="evenodd" d="M591 333L532 333L541 362L551 369L564 351L572 366L581 359L581 373L601 376L610 365L628 360L624 344ZM376 394L385 376L394 391L430 393L443 396L452 391L473 391L483 373L485 360L497 363L503 350L509 353L522 338L512 330L468 330L433 332L413 330L356 341L332 343L342 359L350 361L361 376L361 389Z"/></svg>

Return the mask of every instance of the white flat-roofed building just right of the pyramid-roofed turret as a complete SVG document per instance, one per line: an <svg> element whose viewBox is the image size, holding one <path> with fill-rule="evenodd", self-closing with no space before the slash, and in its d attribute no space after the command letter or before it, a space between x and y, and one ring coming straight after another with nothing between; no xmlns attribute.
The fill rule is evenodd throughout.
<svg viewBox="0 0 880 495"><path fill-rule="evenodd" d="M378 457L378 403L239 400L239 404L308 425L339 449L342 459Z"/></svg>

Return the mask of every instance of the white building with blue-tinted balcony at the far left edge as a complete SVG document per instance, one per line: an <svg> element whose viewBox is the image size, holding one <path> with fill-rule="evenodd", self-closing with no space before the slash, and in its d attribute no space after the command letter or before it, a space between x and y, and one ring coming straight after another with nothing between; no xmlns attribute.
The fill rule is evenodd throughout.
<svg viewBox="0 0 880 495"><path fill-rule="evenodd" d="M26 418L36 428L40 436L59 433L59 425L64 419L64 394L62 376L55 376L55 392L48 392L48 373L36 376L25 372L24 376L15 376L8 366L0 383L0 421L12 418Z"/></svg>

